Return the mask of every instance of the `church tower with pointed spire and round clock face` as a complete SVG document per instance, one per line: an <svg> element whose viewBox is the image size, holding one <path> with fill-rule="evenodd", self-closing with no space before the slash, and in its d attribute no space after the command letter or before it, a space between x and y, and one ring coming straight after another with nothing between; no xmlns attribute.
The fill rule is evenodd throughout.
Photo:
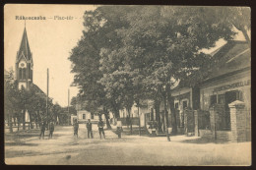
<svg viewBox="0 0 256 170"><path fill-rule="evenodd" d="M20 49L17 51L15 65L19 89L21 89L22 86L24 86L25 89L30 89L32 85L32 66L32 52L25 26Z"/></svg>

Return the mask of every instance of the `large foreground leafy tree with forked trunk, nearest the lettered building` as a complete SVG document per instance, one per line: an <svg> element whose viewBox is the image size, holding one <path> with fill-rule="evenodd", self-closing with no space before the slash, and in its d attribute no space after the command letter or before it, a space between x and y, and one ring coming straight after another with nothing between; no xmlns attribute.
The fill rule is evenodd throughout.
<svg viewBox="0 0 256 170"><path fill-rule="evenodd" d="M208 68L212 59L200 50L215 46L220 38L231 39L235 34L229 25L215 19L216 13L206 13L209 9L144 6L128 13L125 20L129 27L116 30L122 38L123 46L115 50L120 52L114 57L113 50L110 50L108 59L116 63L123 61L122 56L129 57L131 62L125 67L133 68L132 70L137 67L146 73L142 81L146 86L160 91L163 103L167 100L171 113L175 115L170 87L191 75L197 75L197 79L190 80L191 85L203 78L207 73L205 68ZM119 72L115 74L118 75ZM164 115L167 121L165 106L166 104ZM168 122L166 126L168 127ZM175 134L176 125L172 127ZM167 131L166 135L168 136Z"/></svg>

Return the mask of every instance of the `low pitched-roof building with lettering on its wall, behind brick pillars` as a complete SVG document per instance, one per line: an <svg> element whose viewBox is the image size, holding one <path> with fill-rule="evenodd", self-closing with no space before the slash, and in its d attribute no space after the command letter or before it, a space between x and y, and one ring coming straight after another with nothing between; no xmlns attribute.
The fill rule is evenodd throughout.
<svg viewBox="0 0 256 170"><path fill-rule="evenodd" d="M200 113L207 115L203 118L205 121L201 120L201 125L208 122L208 126L201 126L202 130L199 130L201 132L199 135L235 141L233 140L234 132L237 131L238 127L243 127L242 134L246 136L242 141L250 141L250 47L243 41L230 41L216 55L223 55L222 64L200 85ZM239 105L244 106L243 111L239 112L241 119L236 119L238 113L231 111L231 103L239 103ZM235 122L233 121L234 118ZM243 122L242 125L241 122Z"/></svg>

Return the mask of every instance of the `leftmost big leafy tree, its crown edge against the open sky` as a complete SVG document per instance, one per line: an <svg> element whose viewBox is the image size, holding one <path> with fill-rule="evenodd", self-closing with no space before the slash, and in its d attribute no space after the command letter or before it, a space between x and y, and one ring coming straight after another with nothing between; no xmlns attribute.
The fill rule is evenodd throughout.
<svg viewBox="0 0 256 170"><path fill-rule="evenodd" d="M100 50L114 49L119 45L120 40L114 30L124 26L121 16L125 11L125 7L107 6L86 12L84 35L70 56L74 64L72 72L76 74L74 83L80 87L83 100L87 100L87 108L93 112L96 108L104 108L105 117L108 117L107 110L114 112L115 117L119 117L120 104L116 103L117 96L107 97L104 86L97 82L103 77L102 71L99 70Z"/></svg>

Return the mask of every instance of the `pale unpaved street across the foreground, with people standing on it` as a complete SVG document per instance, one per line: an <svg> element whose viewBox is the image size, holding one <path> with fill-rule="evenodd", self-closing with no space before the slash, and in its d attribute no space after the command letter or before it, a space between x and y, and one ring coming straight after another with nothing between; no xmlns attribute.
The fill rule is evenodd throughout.
<svg viewBox="0 0 256 170"><path fill-rule="evenodd" d="M73 137L73 127L55 128L52 140L39 140L38 130L28 135L6 135L6 164L54 165L250 165L251 142L209 142L198 137L166 138L123 136L117 139L105 131L100 140L87 138L85 125L80 125L79 138ZM20 138L19 138L20 137Z"/></svg>

